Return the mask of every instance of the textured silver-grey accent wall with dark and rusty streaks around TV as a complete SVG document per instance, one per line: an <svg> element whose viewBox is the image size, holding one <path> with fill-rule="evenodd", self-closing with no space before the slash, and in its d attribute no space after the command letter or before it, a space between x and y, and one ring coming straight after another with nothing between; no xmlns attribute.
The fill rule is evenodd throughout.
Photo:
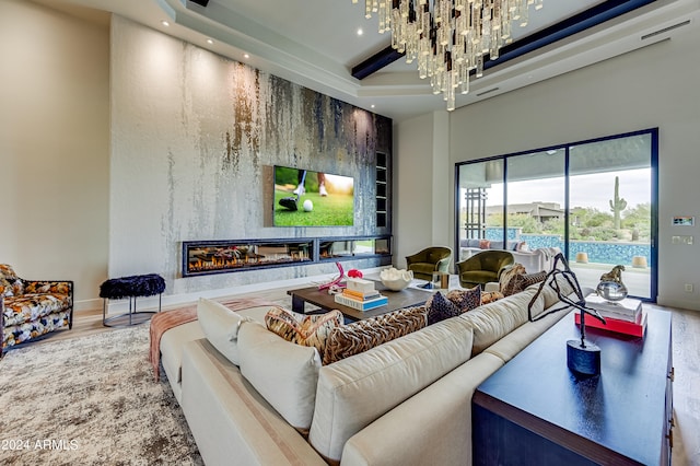
<svg viewBox="0 0 700 466"><path fill-rule="evenodd" d="M390 153L390 119L117 16L110 65L110 277L158 272L172 294L326 273L183 279L180 242L386 233L374 154ZM354 225L272 226L275 164L353 176Z"/></svg>

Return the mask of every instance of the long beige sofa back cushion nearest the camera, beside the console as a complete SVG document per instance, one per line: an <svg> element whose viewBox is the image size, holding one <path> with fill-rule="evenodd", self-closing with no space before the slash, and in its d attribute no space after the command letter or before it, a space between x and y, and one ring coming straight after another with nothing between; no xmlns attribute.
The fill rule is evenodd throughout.
<svg viewBox="0 0 700 466"><path fill-rule="evenodd" d="M338 462L352 435L470 354L471 326L453 317L323 366L308 441L326 461Z"/></svg>

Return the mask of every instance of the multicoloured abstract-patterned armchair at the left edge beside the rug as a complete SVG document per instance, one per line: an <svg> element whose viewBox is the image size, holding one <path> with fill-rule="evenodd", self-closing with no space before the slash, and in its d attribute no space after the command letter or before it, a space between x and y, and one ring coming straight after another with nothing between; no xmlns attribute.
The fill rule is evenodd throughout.
<svg viewBox="0 0 700 466"><path fill-rule="evenodd" d="M73 326L73 282L33 281L0 264L0 357L8 347Z"/></svg>

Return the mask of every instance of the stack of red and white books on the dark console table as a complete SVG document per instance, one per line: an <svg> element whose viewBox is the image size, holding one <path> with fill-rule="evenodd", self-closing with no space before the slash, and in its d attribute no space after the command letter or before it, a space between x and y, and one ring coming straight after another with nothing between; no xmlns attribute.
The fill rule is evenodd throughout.
<svg viewBox="0 0 700 466"><path fill-rule="evenodd" d="M596 310L605 324L595 317L587 316L586 327L603 328L619 334L643 337L646 329L646 312L640 300L626 298L622 301L610 302L597 294L586 298L586 306ZM581 314L576 313L576 324L581 325Z"/></svg>

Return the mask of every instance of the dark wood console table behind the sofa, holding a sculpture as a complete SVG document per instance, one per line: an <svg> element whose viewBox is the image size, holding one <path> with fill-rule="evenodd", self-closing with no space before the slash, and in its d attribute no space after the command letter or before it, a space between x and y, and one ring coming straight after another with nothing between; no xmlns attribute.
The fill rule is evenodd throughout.
<svg viewBox="0 0 700 466"><path fill-rule="evenodd" d="M472 398L475 465L668 465L670 313L648 308L644 338L586 328L598 377L567 369L571 313L481 384Z"/></svg>

